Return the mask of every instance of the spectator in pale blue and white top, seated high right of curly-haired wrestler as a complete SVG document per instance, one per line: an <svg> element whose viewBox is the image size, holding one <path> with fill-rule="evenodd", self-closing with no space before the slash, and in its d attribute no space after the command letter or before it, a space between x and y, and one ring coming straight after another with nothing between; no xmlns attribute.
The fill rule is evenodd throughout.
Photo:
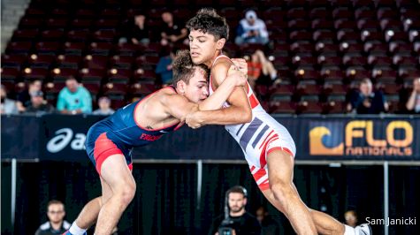
<svg viewBox="0 0 420 235"><path fill-rule="evenodd" d="M267 27L262 19L258 19L256 11L247 11L245 18L241 19L240 25L236 32L235 43L242 45L243 43L267 44L269 42Z"/></svg>

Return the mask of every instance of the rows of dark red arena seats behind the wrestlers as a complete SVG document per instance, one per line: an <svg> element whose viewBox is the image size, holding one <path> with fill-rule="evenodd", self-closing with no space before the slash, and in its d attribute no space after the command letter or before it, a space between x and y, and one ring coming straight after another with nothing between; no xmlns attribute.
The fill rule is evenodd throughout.
<svg viewBox="0 0 420 235"><path fill-rule="evenodd" d="M164 10L185 22L203 6L226 17L232 42L245 10L256 9L266 22L266 51L281 81L256 91L272 113L344 113L346 95L364 78L400 112L401 94L420 77L417 1L34 0L2 55L2 84L17 91L28 80L44 80L47 99L55 102L65 78L74 76L94 97L108 95L121 107L159 87L154 69L161 46L118 44L127 20L141 9L150 26L158 26ZM258 48L232 42L226 49L234 57Z"/></svg>

